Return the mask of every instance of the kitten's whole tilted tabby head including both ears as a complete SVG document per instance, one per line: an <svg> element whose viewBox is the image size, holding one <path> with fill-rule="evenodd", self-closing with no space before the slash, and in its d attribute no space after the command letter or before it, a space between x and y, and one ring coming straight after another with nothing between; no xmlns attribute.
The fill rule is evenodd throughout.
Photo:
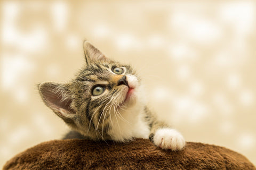
<svg viewBox="0 0 256 170"><path fill-rule="evenodd" d="M69 83L38 85L44 103L71 128L108 139L113 118L141 105L140 79L130 65L114 62L85 41L86 65Z"/></svg>

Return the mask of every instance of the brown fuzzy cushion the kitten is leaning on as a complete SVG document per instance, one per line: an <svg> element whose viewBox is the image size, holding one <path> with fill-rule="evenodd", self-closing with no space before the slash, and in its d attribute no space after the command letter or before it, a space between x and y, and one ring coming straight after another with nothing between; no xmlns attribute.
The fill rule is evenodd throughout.
<svg viewBox="0 0 256 170"><path fill-rule="evenodd" d="M243 155L224 147L187 142L165 151L146 139L128 143L82 139L53 140L10 159L5 169L256 169Z"/></svg>

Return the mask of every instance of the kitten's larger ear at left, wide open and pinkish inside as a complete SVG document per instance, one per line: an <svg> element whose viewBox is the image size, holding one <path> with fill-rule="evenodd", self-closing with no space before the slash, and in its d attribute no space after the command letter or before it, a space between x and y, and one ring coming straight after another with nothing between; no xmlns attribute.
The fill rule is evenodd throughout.
<svg viewBox="0 0 256 170"><path fill-rule="evenodd" d="M70 107L72 102L66 84L46 82L38 84L39 93L49 108L70 125L75 125L75 111Z"/></svg>

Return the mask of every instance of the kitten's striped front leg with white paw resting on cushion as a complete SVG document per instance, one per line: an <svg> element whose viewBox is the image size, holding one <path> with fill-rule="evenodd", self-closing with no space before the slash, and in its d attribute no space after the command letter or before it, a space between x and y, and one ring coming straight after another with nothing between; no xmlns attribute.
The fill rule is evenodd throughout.
<svg viewBox="0 0 256 170"><path fill-rule="evenodd" d="M156 116L151 113L147 116L150 116L147 119L151 126L149 139L157 147L171 150L182 150L185 147L186 142L180 132L163 122L157 121Z"/></svg>

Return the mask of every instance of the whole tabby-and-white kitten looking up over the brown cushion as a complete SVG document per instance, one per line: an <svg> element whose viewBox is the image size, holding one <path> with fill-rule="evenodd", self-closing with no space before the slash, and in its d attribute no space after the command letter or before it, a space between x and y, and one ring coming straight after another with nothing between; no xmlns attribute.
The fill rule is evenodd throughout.
<svg viewBox="0 0 256 170"><path fill-rule="evenodd" d="M162 149L185 147L182 135L149 110L141 80L130 65L110 60L87 41L84 54L86 65L74 80L38 85L46 106L73 130L66 139L149 138Z"/></svg>

